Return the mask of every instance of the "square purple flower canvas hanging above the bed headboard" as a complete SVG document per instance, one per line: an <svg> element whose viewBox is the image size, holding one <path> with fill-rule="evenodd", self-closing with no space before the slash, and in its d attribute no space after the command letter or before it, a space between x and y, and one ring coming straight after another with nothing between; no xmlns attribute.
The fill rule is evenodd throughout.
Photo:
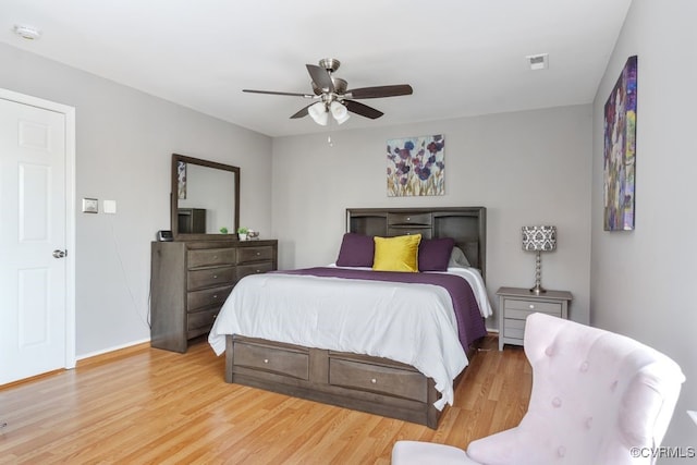
<svg viewBox="0 0 697 465"><path fill-rule="evenodd" d="M388 197L445 194L445 138L388 140Z"/></svg>

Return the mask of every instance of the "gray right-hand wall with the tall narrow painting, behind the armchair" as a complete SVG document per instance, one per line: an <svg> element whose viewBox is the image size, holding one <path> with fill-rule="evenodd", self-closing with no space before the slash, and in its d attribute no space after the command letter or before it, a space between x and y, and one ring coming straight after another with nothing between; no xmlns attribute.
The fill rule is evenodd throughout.
<svg viewBox="0 0 697 465"><path fill-rule="evenodd" d="M697 445L697 2L634 0L594 103L591 314L674 358L683 386L664 445ZM636 229L602 231L603 106L626 59L638 56ZM664 463L668 463L665 461ZM675 460L675 463L685 463Z"/></svg>

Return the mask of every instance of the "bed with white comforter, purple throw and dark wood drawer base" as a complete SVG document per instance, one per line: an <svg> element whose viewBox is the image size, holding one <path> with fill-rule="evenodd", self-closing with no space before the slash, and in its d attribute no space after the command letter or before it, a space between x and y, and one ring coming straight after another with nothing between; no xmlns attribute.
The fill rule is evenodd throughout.
<svg viewBox="0 0 697 465"><path fill-rule="evenodd" d="M374 252L350 245L374 236L374 266L382 265L386 247L409 242L424 271L366 267ZM452 243L445 269L443 243ZM435 244L440 265L431 270L426 257L438 254L426 247ZM228 382L435 429L486 334L485 254L482 207L347 209L337 264L245 277L209 343L225 352Z"/></svg>

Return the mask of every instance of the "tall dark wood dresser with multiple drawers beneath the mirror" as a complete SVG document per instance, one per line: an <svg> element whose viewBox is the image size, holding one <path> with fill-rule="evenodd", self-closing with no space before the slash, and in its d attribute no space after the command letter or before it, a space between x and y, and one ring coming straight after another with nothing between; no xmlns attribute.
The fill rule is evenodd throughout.
<svg viewBox="0 0 697 465"><path fill-rule="evenodd" d="M278 266L278 242L154 242L150 265L150 345L186 352L208 334L220 307L247 274Z"/></svg>

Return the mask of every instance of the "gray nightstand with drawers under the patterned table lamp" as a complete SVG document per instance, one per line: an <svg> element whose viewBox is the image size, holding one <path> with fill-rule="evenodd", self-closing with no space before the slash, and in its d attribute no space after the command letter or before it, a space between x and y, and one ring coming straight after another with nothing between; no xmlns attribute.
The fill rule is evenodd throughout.
<svg viewBox="0 0 697 465"><path fill-rule="evenodd" d="M499 351L503 344L523 345L525 319L528 315L542 313L559 318L568 318L571 292L547 291L536 295L528 289L500 287L499 296Z"/></svg>

